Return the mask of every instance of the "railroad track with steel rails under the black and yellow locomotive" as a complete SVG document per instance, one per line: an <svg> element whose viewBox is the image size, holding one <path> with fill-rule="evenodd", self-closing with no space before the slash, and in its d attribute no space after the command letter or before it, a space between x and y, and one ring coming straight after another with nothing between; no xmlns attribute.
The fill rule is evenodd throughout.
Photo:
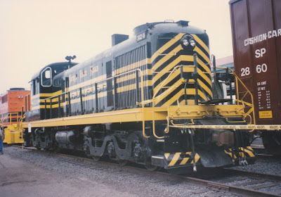
<svg viewBox="0 0 281 197"><path fill-rule="evenodd" d="M20 148L27 148L32 151L37 151L36 148L28 148L22 146L16 146ZM190 177L186 175L174 175L166 172L151 172L145 170L141 167L136 166L120 166L118 163L108 163L105 161L94 161L89 158L84 158L76 155L68 155L63 153L51 153L46 151L39 151L40 153L46 153L48 155L56 155L60 158L64 158L67 163L72 165L79 165L81 167L89 167L94 170L106 170L113 169L117 170L118 173L120 170L132 173L153 173L154 177L160 177L164 179L174 180L176 182L188 182L192 184L197 184L200 186L206 187L202 191L197 191L197 194L202 194L210 190L216 191L215 195L211 196L222 196L223 193L233 193L235 195L242 196L281 196L281 176L273 174L263 174L259 172L249 172L243 170L233 170L229 168L224 168L218 170L218 173L204 174L195 174L198 177ZM232 178L233 177L233 178ZM153 180L152 180L153 182ZM267 191L261 191L261 189ZM205 195L209 196L209 195Z"/></svg>

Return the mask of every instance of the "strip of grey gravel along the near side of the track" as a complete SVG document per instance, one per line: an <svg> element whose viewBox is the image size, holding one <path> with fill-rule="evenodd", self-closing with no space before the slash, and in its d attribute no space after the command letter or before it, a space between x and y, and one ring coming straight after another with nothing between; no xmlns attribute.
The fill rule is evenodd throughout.
<svg viewBox="0 0 281 197"><path fill-rule="evenodd" d="M58 172L73 179L93 180L117 191L131 193L132 196L235 196L230 193L212 191L204 186L155 177L149 173L136 174L126 172L122 168L110 169L99 164L91 167L93 169L89 166L82 167L67 162L65 158L13 146L5 147L4 151L13 158L25 160L46 170Z"/></svg>

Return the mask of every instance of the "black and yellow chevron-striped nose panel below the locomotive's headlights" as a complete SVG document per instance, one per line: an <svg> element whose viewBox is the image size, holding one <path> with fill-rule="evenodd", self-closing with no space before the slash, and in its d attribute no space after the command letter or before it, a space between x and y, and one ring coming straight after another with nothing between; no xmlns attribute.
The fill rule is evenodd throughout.
<svg viewBox="0 0 281 197"><path fill-rule="evenodd" d="M208 46L197 37L195 34L191 34L194 37L197 45L193 51L186 51L181 46L181 38L184 34L178 34L174 39L171 39L169 42L164 44L151 58L152 63L152 87L153 91L159 89L160 84L166 79L169 75L169 72L176 67L176 65L194 65L193 63L193 53L197 53L198 56L198 67L197 72L199 78L197 80L199 84L199 99L201 101L208 100L212 98L211 92L211 70L209 66L209 48ZM161 56L161 54L165 54ZM184 75L187 72L194 72L194 68L185 68L183 70ZM172 87L173 84L176 84L180 80L181 73L179 71L174 72L170 76L169 80L164 84L165 87ZM166 96L162 98L162 101L157 101L156 106L169 106L176 103L176 101L183 100L183 88L184 85L177 87L173 92L169 92ZM159 94L163 94L166 89L159 91ZM188 83L187 92L188 100L194 99L195 94L195 85L194 83ZM179 98L179 99L178 99Z"/></svg>

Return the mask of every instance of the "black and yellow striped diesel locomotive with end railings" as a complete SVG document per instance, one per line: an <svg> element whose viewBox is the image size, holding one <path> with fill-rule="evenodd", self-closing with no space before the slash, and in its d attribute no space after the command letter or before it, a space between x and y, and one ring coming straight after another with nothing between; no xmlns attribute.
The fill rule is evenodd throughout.
<svg viewBox="0 0 281 197"><path fill-rule="evenodd" d="M32 77L25 145L171 173L253 163L249 131L235 127L251 105L222 96L239 79L211 75L207 33L188 23L146 23L89 61L46 65Z"/></svg>

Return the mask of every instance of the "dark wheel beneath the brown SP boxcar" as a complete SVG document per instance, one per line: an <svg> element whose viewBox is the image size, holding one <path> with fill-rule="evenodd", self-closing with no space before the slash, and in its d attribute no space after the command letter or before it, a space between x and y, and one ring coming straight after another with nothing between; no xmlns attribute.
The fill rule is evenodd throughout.
<svg viewBox="0 0 281 197"><path fill-rule="evenodd" d="M281 155L281 132L262 132L263 146L273 155Z"/></svg>

